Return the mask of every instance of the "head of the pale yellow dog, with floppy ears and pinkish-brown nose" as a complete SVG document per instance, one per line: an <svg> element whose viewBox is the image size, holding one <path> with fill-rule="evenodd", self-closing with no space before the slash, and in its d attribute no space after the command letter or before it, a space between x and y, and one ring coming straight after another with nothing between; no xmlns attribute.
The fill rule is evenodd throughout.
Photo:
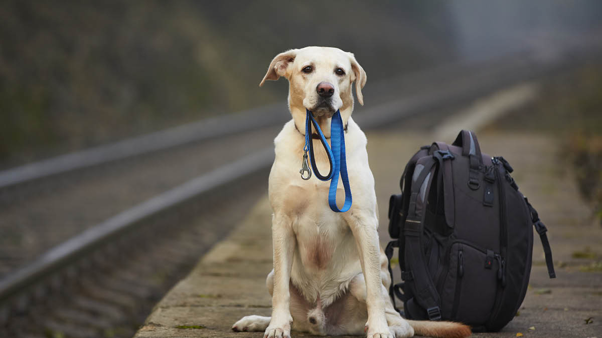
<svg viewBox="0 0 602 338"><path fill-rule="evenodd" d="M352 53L338 48L306 47L278 54L259 86L280 76L290 83L291 108L308 109L315 117L332 117L338 109L353 109L354 81L358 102L364 105L362 88L366 73Z"/></svg>

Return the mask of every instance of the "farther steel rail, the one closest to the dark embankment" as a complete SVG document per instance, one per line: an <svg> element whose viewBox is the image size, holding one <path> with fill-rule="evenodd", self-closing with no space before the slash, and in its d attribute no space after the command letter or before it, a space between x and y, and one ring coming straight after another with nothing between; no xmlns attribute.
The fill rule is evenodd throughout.
<svg viewBox="0 0 602 338"><path fill-rule="evenodd" d="M528 55L516 54L513 57L524 59L528 58ZM505 60L507 60L507 56L500 57L498 60L475 63L444 64L432 69L418 70L417 72L403 76L396 76L393 78L393 81L391 79L380 81L372 84L371 87L375 91L380 91L378 88L386 88L389 84L397 82L402 84L404 88L413 88L417 84L431 82L433 78L441 81L441 79L445 78L462 76L463 73L466 73L470 69L478 68L484 72L491 72L491 70L499 69L498 64L505 62ZM405 105L407 102L414 102L417 100L416 96L419 99L424 95L405 94L395 104ZM9 168L0 171L0 189L111 161L118 161L211 138L224 137L256 128L282 124L290 118L289 115L283 114L287 110L287 103L285 102L272 103L234 114L205 118L200 121L164 129L163 131L117 141L116 143L92 147L19 167ZM361 114L361 110L358 109L359 114ZM359 114L356 112L355 116Z"/></svg>

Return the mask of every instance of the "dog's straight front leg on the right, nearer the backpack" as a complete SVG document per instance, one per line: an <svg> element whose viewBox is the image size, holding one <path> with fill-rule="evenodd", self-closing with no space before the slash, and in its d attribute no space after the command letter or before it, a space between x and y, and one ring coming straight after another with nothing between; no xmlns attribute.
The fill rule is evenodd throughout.
<svg viewBox="0 0 602 338"><path fill-rule="evenodd" d="M380 250L376 215L353 210L346 215L359 251L359 261L366 281L368 338L393 338L385 317L385 301L381 294Z"/></svg>

